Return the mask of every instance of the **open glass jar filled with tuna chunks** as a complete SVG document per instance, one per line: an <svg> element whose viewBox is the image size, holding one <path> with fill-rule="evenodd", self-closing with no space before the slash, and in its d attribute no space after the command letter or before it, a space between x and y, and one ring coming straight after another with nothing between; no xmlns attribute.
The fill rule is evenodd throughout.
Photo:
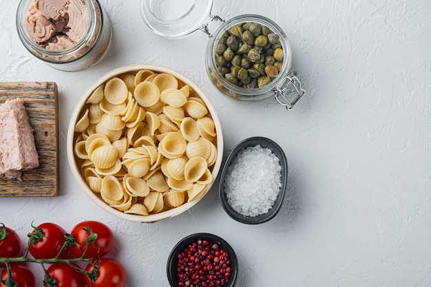
<svg viewBox="0 0 431 287"><path fill-rule="evenodd" d="M63 71L96 65L112 35L107 13L97 0L21 0L17 30L33 56Z"/></svg>

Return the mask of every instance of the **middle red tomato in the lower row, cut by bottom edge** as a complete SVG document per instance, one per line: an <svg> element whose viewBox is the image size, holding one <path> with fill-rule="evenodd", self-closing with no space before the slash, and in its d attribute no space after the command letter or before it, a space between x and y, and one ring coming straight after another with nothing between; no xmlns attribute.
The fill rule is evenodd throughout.
<svg viewBox="0 0 431 287"><path fill-rule="evenodd" d="M78 268L78 266L76 266L76 268ZM48 274L55 279L57 287L85 286L84 273L79 272L67 263L54 263L47 271ZM45 284L45 286L48 286L48 284Z"/></svg>

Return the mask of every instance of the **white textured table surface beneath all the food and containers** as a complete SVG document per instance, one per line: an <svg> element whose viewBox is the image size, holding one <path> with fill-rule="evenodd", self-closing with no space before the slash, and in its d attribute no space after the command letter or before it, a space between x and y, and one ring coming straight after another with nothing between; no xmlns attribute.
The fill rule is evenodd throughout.
<svg viewBox="0 0 431 287"><path fill-rule="evenodd" d="M0 222L21 238L32 222L65 229L105 222L127 286L169 286L171 248L198 232L233 246L241 287L431 286L430 1L215 1L213 13L224 19L261 14L286 32L307 92L292 111L273 98L243 103L220 94L204 66L207 36L153 34L137 0L101 0L112 45L101 63L81 72L54 70L25 50L17 5L0 0L0 81L59 86L59 197L0 198ZM218 180L191 210L154 224L121 220L87 198L67 162L70 116L92 82L132 63L174 68L204 89L220 116L225 157L249 136L284 149L288 191L275 219L259 226L231 220Z"/></svg>

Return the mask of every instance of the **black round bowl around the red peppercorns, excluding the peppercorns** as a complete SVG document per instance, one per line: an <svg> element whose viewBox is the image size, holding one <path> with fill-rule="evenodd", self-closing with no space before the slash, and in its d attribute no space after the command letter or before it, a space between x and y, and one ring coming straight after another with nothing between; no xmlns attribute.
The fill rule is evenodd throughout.
<svg viewBox="0 0 431 287"><path fill-rule="evenodd" d="M218 244L224 251L229 254L229 259L231 260L231 277L229 277L229 282L224 284L223 287L233 287L235 286L235 281L238 277L238 259L236 257L235 251L233 248L227 243L226 240L218 237L217 235L213 235L211 233L195 233L189 235L174 246L169 257L167 259L167 279L169 280L169 284L172 287L178 287L178 277L177 277L177 264L178 264L178 253L181 253L185 250L190 244L196 242L198 240L208 240L211 244Z"/></svg>

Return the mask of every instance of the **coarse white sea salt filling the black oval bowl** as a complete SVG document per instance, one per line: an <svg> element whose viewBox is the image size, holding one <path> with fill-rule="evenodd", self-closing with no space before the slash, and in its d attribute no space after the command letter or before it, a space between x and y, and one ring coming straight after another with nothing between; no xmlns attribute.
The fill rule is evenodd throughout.
<svg viewBox="0 0 431 287"><path fill-rule="evenodd" d="M271 149L255 145L233 159L224 180L228 204L238 213L255 217L272 208L282 186L280 160Z"/></svg>

